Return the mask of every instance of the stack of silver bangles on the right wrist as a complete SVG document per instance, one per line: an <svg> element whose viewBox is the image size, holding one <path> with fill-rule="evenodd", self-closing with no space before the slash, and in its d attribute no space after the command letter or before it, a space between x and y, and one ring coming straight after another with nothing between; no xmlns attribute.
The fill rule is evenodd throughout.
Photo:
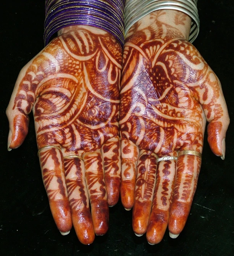
<svg viewBox="0 0 234 256"><path fill-rule="evenodd" d="M182 11L192 18L189 36L189 41L192 43L200 30L197 0L129 0L124 8L125 35L130 27L144 16L165 9Z"/></svg>

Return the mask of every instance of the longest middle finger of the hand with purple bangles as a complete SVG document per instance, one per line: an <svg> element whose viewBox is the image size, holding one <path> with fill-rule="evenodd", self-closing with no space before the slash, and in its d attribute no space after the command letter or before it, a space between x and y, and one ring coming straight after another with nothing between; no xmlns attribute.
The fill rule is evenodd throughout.
<svg viewBox="0 0 234 256"><path fill-rule="evenodd" d="M67 158L64 167L73 226L80 242L89 245L95 234L85 183L85 165L80 158Z"/></svg>

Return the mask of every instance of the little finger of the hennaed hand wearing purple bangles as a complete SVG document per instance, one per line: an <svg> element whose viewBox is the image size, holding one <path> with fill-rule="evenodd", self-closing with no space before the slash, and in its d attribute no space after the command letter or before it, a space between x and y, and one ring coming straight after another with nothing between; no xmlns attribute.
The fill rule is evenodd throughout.
<svg viewBox="0 0 234 256"><path fill-rule="evenodd" d="M120 190L121 164L119 137L114 137L106 141L102 146L101 153L104 162L107 202L109 206L113 206L119 200Z"/></svg>

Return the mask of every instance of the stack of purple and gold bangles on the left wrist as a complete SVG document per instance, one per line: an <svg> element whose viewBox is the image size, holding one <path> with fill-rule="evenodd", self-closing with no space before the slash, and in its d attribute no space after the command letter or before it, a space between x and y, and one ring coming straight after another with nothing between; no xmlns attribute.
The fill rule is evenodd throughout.
<svg viewBox="0 0 234 256"><path fill-rule="evenodd" d="M112 34L123 47L125 0L46 0L44 42L60 29L90 25Z"/></svg>

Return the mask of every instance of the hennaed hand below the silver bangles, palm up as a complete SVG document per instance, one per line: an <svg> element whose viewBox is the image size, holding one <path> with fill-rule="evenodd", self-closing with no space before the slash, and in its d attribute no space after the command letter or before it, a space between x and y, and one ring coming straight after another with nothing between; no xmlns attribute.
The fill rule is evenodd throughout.
<svg viewBox="0 0 234 256"><path fill-rule="evenodd" d="M229 125L218 78L180 30L160 21L164 14L151 13L153 25L140 21L129 31L120 90L120 194L133 207L134 232L150 244L167 225L177 237L192 205L201 157L178 153L202 153L207 120L210 148L224 159ZM157 162L164 156L175 160Z"/></svg>

